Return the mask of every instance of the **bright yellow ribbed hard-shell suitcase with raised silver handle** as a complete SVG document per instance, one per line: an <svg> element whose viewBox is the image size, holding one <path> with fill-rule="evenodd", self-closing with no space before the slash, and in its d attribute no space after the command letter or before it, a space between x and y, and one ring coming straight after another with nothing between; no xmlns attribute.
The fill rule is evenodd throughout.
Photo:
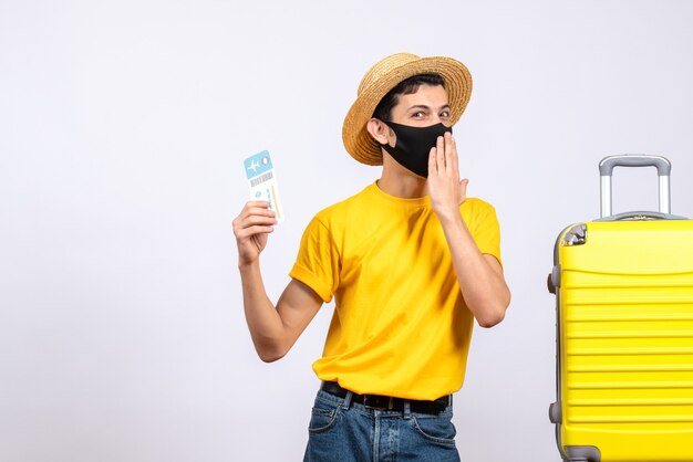
<svg viewBox="0 0 693 462"><path fill-rule="evenodd" d="M654 166L660 212L611 214L617 166ZM693 221L670 214L671 164L600 162L601 216L563 230L549 291L557 301L557 401L571 462L693 462Z"/></svg>

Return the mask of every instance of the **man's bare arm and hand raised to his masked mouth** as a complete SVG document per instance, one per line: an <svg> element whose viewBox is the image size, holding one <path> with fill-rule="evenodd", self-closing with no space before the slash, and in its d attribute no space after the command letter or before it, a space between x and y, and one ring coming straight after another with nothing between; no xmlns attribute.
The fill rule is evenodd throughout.
<svg viewBox="0 0 693 462"><path fill-rule="evenodd" d="M428 193L449 246L455 274L469 311L482 327L493 327L505 317L510 291L495 256L483 254L462 216L467 180L459 180L457 149L449 133L439 137L428 158Z"/></svg>

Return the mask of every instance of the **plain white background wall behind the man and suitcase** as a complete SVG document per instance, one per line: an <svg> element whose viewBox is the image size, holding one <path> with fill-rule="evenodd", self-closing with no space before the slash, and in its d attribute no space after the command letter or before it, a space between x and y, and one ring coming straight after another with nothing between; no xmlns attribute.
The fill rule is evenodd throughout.
<svg viewBox="0 0 693 462"><path fill-rule="evenodd" d="M361 76L401 51L472 71L455 128L492 202L514 298L476 329L456 395L465 461L558 461L554 297L566 225L599 213L598 161L673 164L693 216L693 2L0 1L0 460L298 461L332 312L255 355L230 227L269 149L287 221L276 300L309 219L377 178L344 151ZM618 169L616 211L656 207Z"/></svg>

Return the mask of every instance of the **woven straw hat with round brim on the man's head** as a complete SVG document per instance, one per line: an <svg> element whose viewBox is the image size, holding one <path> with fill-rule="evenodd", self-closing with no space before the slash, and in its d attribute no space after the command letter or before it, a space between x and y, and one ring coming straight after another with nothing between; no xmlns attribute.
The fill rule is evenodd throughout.
<svg viewBox="0 0 693 462"><path fill-rule="evenodd" d="M455 124L459 119L472 93L472 75L464 64L445 56L392 54L365 73L359 85L356 101L344 118L342 140L351 157L366 165L383 164L381 147L368 133L365 125L387 92L417 74L438 74L443 77L451 106L451 120Z"/></svg>

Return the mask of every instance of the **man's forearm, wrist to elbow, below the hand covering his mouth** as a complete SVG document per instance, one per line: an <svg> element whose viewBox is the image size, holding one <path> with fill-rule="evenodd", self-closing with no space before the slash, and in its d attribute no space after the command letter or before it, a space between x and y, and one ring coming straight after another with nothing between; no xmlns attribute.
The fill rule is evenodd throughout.
<svg viewBox="0 0 693 462"><path fill-rule="evenodd" d="M458 210L441 218L465 304L482 327L503 321L510 292L499 270L492 267L474 242Z"/></svg>

